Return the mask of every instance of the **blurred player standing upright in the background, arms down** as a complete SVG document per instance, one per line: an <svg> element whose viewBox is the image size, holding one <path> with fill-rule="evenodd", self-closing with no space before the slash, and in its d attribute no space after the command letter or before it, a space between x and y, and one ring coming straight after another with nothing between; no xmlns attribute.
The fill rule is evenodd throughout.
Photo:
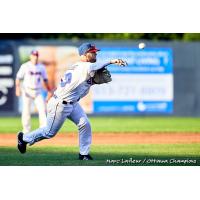
<svg viewBox="0 0 200 200"><path fill-rule="evenodd" d="M33 50L31 52L30 60L21 65L15 80L16 96L22 95L22 126L24 133L31 130L30 109L32 101L34 101L38 110L40 127L47 125L46 105L41 94L42 79L48 91L50 91L50 87L45 66L38 63L38 56L38 51ZM23 80L22 87L20 86L21 80Z"/></svg>

